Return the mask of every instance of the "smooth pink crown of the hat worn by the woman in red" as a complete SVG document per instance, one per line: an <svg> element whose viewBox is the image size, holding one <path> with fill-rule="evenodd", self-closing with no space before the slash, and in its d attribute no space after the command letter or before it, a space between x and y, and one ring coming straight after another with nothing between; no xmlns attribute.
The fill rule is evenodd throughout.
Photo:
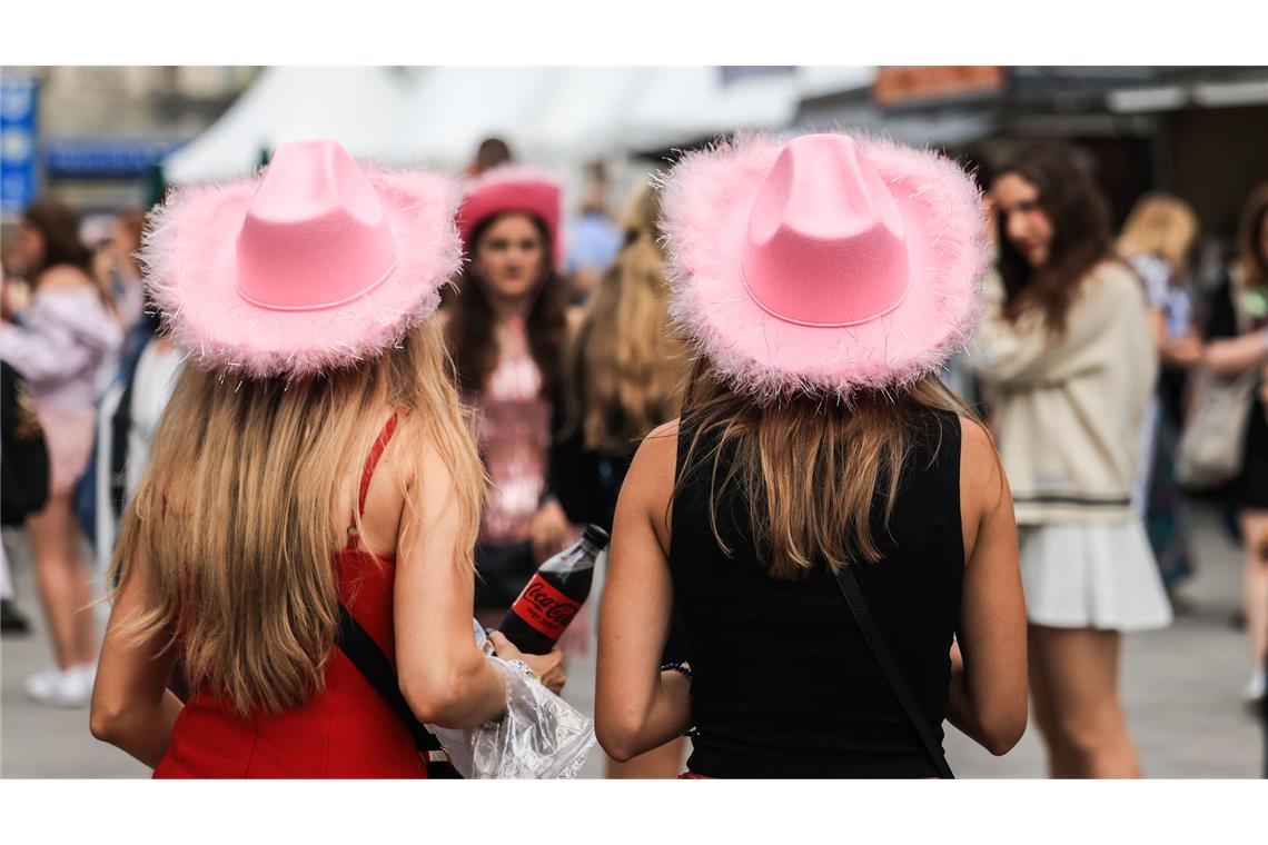
<svg viewBox="0 0 1268 845"><path fill-rule="evenodd" d="M333 308L378 285L396 242L370 177L335 141L284 143L236 241L238 293L280 310Z"/></svg>

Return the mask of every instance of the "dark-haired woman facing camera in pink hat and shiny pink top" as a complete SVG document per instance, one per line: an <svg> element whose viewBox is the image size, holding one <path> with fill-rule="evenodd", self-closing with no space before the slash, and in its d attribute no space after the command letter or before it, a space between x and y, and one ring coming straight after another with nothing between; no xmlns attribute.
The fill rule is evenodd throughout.
<svg viewBox="0 0 1268 845"><path fill-rule="evenodd" d="M501 621L574 533L548 489L568 329L559 218L559 184L522 167L473 180L458 212L469 261L446 303L445 332L464 398L479 412L492 483L476 550L476 611L486 625Z"/></svg>

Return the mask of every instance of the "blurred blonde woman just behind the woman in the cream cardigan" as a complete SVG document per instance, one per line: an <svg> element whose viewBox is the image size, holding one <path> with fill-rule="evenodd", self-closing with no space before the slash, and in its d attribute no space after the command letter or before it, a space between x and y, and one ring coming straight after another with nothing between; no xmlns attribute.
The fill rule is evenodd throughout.
<svg viewBox="0 0 1268 845"><path fill-rule="evenodd" d="M1202 338L1193 324L1186 288L1197 215L1169 194L1145 194L1132 206L1118 236L1118 255L1145 284L1149 328L1158 348L1158 390L1145 416L1134 499L1145 517L1149 543L1172 604L1178 585L1193 574L1184 499L1175 484L1173 456L1179 442L1187 374L1202 360Z"/></svg>

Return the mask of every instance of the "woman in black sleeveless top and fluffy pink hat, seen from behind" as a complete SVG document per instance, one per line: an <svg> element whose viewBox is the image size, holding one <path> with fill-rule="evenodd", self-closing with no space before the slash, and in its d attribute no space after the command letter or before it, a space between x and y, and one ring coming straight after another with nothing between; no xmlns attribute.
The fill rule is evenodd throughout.
<svg viewBox="0 0 1268 845"><path fill-rule="evenodd" d="M595 716L618 760L694 728L692 777L928 778L943 717L994 754L1021 737L1008 486L935 375L976 322L980 208L947 160L837 133L668 175L699 357L616 507ZM675 606L690 661L663 665Z"/></svg>

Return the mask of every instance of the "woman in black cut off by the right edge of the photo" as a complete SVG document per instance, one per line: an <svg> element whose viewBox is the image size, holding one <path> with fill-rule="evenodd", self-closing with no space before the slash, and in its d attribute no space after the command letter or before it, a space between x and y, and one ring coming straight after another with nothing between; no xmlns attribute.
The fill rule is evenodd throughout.
<svg viewBox="0 0 1268 845"><path fill-rule="evenodd" d="M1268 661L1268 182L1246 196L1238 228L1238 256L1211 300L1206 365L1221 378L1259 371L1259 390L1246 413L1241 471L1224 490L1238 511L1245 543L1243 606L1250 636L1245 698L1264 698Z"/></svg>

